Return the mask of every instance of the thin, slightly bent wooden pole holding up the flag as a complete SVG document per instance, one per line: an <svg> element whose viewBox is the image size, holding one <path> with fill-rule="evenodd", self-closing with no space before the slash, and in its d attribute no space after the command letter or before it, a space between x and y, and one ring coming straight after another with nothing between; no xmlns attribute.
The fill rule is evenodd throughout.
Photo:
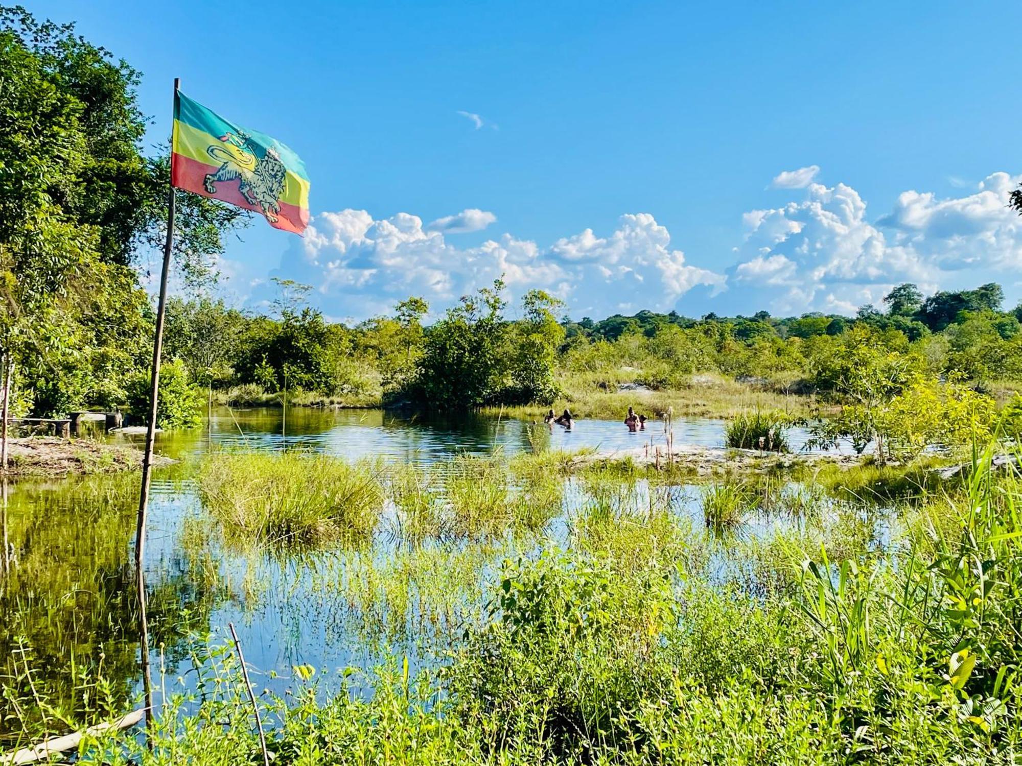
<svg viewBox="0 0 1022 766"><path fill-rule="evenodd" d="M174 79L174 97L177 99L181 79ZM171 166L174 165L174 146L171 145ZM149 677L149 625L145 615L145 518L149 510L149 485L152 482L152 447L156 439L156 415L159 401L159 357L164 351L164 319L167 315L167 278L171 271L171 253L174 249L174 212L176 195L171 179L168 197L167 244L164 246L164 268L159 275L159 302L156 306L156 334L152 343L152 387L149 392L149 423L145 431L145 453L142 457L142 488L138 498L138 521L135 528L135 584L138 590L140 659L142 683L145 693L145 722L152 723L152 681ZM151 747L151 741L149 743Z"/></svg>

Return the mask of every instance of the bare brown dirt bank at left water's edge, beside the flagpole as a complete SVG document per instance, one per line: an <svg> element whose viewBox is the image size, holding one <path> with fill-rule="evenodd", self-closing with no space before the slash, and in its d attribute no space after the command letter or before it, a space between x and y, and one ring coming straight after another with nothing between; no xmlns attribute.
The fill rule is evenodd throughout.
<svg viewBox="0 0 1022 766"><path fill-rule="evenodd" d="M142 450L126 444L108 444L93 439L59 439L32 436L11 439L8 444L7 476L66 476L67 474L131 471L142 465ZM153 466L174 463L156 457Z"/></svg>

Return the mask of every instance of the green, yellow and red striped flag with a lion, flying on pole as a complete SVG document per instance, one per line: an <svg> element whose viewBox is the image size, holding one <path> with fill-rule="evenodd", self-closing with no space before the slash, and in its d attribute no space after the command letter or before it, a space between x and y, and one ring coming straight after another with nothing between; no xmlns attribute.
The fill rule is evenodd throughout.
<svg viewBox="0 0 1022 766"><path fill-rule="evenodd" d="M309 226L309 176L298 155L180 91L174 94L171 185L254 210L286 232L301 234Z"/></svg>

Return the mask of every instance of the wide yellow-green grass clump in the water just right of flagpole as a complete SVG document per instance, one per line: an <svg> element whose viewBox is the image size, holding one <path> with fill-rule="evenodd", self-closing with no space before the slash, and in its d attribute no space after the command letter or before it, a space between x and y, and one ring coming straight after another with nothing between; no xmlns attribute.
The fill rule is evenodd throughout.
<svg viewBox="0 0 1022 766"><path fill-rule="evenodd" d="M364 542L383 506L377 464L306 452L213 454L198 493L227 539L269 545Z"/></svg>

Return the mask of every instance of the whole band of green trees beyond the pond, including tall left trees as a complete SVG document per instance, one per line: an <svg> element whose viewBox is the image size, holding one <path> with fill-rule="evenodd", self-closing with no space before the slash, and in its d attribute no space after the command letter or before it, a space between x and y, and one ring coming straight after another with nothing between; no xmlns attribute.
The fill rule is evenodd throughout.
<svg viewBox="0 0 1022 766"><path fill-rule="evenodd" d="M0 389L15 415L145 411L153 309L145 254L168 208L168 147L142 145L140 75L69 25L0 7ZM701 318L640 312L562 317L533 290L509 305L498 281L432 322L410 297L349 326L277 282L265 313L211 296L216 256L247 213L178 194L175 272L191 299L169 307L164 425L200 421L203 400L307 392L349 403L473 409L549 404L607 389L622 370L653 389L714 372L829 391L848 343L904 355L927 374L985 386L1022 380L1022 310L996 284L924 296L895 287L852 318L819 313ZM1012 197L1022 211L1022 196ZM206 295L206 297L201 297Z"/></svg>

